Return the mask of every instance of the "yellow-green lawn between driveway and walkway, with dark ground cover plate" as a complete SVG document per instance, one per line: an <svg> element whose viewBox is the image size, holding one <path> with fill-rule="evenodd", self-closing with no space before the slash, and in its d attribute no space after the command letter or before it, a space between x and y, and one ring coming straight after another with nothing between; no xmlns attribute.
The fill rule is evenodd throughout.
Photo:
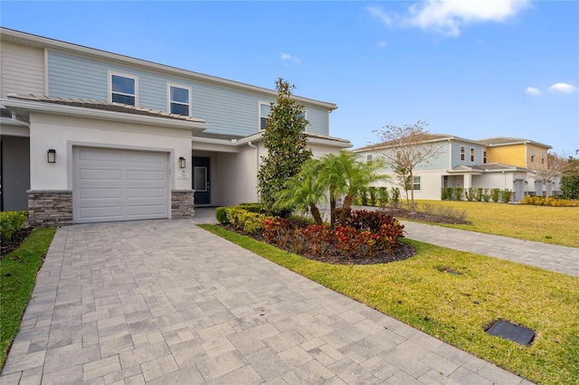
<svg viewBox="0 0 579 385"><path fill-rule="evenodd" d="M579 277L408 239L413 258L330 265L201 227L528 380L579 383ZM533 329L535 341L525 347L485 333L498 319Z"/></svg>

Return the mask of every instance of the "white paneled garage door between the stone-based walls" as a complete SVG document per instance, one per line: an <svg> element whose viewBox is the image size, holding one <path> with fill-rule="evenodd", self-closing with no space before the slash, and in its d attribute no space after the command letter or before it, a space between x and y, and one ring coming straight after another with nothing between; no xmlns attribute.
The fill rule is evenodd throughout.
<svg viewBox="0 0 579 385"><path fill-rule="evenodd" d="M74 147L74 222L168 218L167 158L166 153Z"/></svg>

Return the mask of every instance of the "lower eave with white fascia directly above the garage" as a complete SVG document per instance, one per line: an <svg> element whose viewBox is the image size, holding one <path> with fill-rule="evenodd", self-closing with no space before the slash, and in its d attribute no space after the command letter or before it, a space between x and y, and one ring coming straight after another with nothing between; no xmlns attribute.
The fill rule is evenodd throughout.
<svg viewBox="0 0 579 385"><path fill-rule="evenodd" d="M188 130L204 130L205 123L178 120L167 117L150 117L145 115L135 115L128 112L109 111L96 108L85 108L67 106L56 103L46 103L42 101L31 101L22 99L0 99L2 104L12 111L34 111L50 115L65 115L68 117L88 117L101 120L112 120L123 123L134 123L146 126L172 127Z"/></svg>

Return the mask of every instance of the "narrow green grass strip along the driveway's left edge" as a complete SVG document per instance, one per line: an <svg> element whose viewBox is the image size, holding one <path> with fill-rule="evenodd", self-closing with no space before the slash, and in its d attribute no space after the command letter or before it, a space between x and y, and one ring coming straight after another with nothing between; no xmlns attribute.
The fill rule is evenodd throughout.
<svg viewBox="0 0 579 385"><path fill-rule="evenodd" d="M36 273L43 264L54 228L37 229L18 249L0 260L0 368L12 344L24 309L30 301Z"/></svg>

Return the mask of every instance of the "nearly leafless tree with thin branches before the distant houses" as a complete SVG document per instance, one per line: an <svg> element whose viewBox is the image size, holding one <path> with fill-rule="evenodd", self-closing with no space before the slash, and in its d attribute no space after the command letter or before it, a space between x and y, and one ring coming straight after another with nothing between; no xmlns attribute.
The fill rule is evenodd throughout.
<svg viewBox="0 0 579 385"><path fill-rule="evenodd" d="M384 126L377 131L378 136L387 146L383 151L385 163L394 171L400 170L405 173L402 178L402 187L410 187L411 209L414 208L413 183L414 169L418 165L427 165L433 159L441 155L443 146L440 143L432 142L432 137L425 131L428 126L423 121L418 121L413 125L403 127L392 124Z"/></svg>

